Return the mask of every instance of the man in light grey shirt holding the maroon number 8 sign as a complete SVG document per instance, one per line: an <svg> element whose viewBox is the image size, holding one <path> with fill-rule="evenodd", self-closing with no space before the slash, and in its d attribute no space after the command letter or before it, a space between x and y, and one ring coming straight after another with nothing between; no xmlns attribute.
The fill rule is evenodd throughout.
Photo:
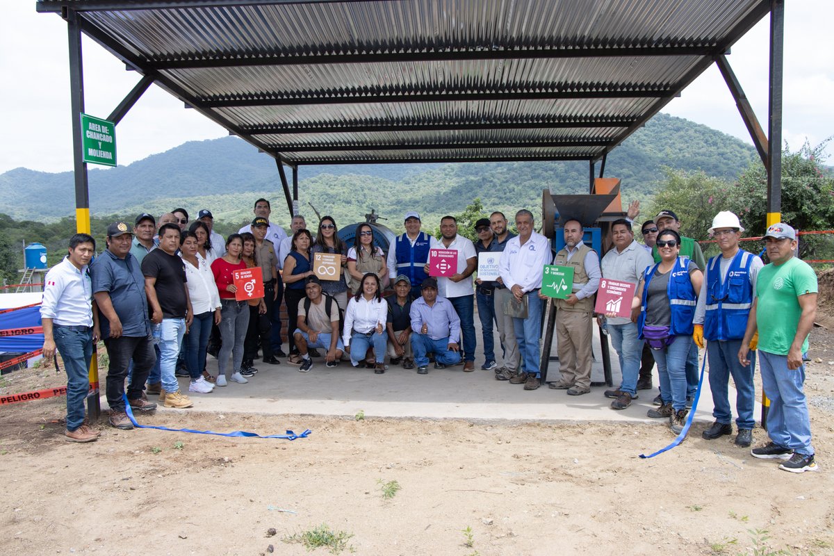
<svg viewBox="0 0 834 556"><path fill-rule="evenodd" d="M651 253L635 241L631 223L625 218L611 223L611 238L614 240L614 248L605 253L600 262L602 279L629 282L637 287L646 267L654 264ZM620 388L605 391L605 398L615 398L611 402L612 409L625 409L631 405L631 400L637 398L637 377L640 374L644 344L637 333L639 314L640 310L634 309L631 317L618 317L615 314L601 317L608 322L608 334L620 358L620 371L623 375Z"/></svg>

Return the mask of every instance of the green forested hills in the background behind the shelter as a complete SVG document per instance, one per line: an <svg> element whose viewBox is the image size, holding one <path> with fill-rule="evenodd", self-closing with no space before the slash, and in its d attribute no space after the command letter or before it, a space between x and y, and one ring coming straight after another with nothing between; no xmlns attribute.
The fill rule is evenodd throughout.
<svg viewBox="0 0 834 556"><path fill-rule="evenodd" d="M624 198L651 197L661 168L703 170L735 178L756 156L736 138L681 118L659 114L612 153L605 174L622 178ZM587 163L376 164L299 169L302 213L332 214L355 222L370 208L401 227L406 210L418 210L432 227L480 197L488 210L540 207L541 191L581 193ZM189 142L128 166L91 169L91 213L162 213L183 206L211 208L221 231L247 222L254 200L273 203L274 220L289 222L274 160L238 138ZM72 173L16 168L0 175L3 213L16 219L54 221L74 214ZM48 199L45 202L44 199Z"/></svg>

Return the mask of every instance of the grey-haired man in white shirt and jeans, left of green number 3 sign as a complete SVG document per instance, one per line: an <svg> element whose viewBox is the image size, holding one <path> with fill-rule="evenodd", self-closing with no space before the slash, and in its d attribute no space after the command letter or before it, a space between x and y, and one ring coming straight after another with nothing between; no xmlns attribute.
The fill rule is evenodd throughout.
<svg viewBox="0 0 834 556"><path fill-rule="evenodd" d="M510 378L510 384L524 384L525 390L541 385L539 340L541 335L541 278L550 263L550 242L533 231L533 213L521 209L515 213L518 235L507 242L501 253L499 272L515 303L527 306L526 318L513 318L515 341L524 361L525 372Z"/></svg>

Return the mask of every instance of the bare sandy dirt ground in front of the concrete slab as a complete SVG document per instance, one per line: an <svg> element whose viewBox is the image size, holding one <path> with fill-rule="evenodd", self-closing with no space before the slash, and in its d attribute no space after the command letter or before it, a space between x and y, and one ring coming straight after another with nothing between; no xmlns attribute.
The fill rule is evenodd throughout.
<svg viewBox="0 0 834 556"><path fill-rule="evenodd" d="M751 458L731 437L702 439L703 423L679 448L641 459L671 441L667 427L166 411L140 421L313 432L222 438L118 431L102 418L100 440L76 444L63 439L63 398L3 407L0 547L305 554L289 537L326 524L352 535L344 553L373 555L834 554L832 332L811 337L806 392L821 470L801 475ZM63 380L43 369L13 375L0 391ZM400 489L384 498L391 481Z"/></svg>

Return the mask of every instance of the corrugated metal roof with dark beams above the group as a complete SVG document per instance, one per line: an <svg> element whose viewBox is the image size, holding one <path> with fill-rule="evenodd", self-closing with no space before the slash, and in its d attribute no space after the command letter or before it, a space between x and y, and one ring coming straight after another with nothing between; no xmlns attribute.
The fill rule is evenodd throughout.
<svg viewBox="0 0 834 556"><path fill-rule="evenodd" d="M38 0L290 165L598 160L769 0Z"/></svg>

